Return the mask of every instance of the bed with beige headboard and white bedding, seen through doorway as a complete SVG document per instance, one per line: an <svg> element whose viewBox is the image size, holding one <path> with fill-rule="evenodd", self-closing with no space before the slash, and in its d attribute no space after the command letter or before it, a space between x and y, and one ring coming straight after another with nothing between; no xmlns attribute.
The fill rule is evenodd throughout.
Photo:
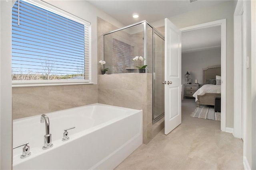
<svg viewBox="0 0 256 170"><path fill-rule="evenodd" d="M221 96L221 85L214 85L210 80L216 79L216 76L220 78L221 67L220 66L210 66L203 68L203 86L199 88L193 97L196 98L196 106L204 105L215 105L215 97ZM220 84L221 80L217 80L217 84ZM209 84L212 83L212 84Z"/></svg>

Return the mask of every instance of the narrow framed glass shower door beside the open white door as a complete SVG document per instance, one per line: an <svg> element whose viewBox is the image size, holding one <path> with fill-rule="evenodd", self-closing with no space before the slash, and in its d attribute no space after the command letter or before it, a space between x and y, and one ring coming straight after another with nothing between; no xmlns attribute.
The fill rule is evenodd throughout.
<svg viewBox="0 0 256 170"><path fill-rule="evenodd" d="M153 32L153 116L155 123L164 116L164 39Z"/></svg>

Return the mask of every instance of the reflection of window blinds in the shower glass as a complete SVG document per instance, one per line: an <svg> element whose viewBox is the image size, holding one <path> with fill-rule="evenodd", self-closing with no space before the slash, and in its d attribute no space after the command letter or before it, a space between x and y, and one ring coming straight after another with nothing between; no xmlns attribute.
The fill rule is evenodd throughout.
<svg viewBox="0 0 256 170"><path fill-rule="evenodd" d="M113 38L113 73L124 73L126 68L133 68L134 46Z"/></svg>

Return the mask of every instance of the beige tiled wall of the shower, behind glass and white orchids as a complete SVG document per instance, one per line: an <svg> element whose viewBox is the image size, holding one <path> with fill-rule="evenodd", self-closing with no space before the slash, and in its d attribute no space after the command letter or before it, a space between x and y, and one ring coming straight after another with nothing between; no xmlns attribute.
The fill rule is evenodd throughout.
<svg viewBox="0 0 256 170"><path fill-rule="evenodd" d="M135 61L133 62L132 59L135 56L144 56L144 43L143 43L143 25L136 25L136 27L140 33L128 33L129 31L132 31L130 29L132 28L127 28L124 30L117 31L115 33L110 33L108 35L105 35L104 41L105 41L105 46L104 46L104 55L103 55L103 34L113 31L117 29L114 25L111 25L107 21L102 20L101 18L98 18L97 20L98 24L98 61L104 60L106 61L105 68L109 68L107 71L108 74L117 74L117 73L129 73L129 72L138 72L138 70L130 70L126 68L134 68L134 66L139 66L139 62ZM135 28L134 28L135 29ZM113 39L116 39L117 41L113 41ZM119 41L119 43L118 43ZM113 42L115 44L113 44ZM120 51L120 47L122 47L121 44L126 44L124 46L123 51ZM131 49L128 50L128 46L130 45ZM113 48L114 47L114 48ZM116 50L113 50L115 49ZM117 50L119 49L119 50ZM127 63L131 61L129 64L124 64L124 58L120 58L120 56L117 56L117 52L124 52L126 57L128 58ZM125 52L126 51L126 52ZM130 51L130 52L129 52ZM119 53L119 55L121 55ZM130 59L129 59L130 58ZM100 68L100 67L98 67Z"/></svg>

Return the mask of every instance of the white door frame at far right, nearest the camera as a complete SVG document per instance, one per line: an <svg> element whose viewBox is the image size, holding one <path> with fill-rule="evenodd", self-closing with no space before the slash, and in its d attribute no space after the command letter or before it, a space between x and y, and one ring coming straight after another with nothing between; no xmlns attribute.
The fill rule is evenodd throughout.
<svg viewBox="0 0 256 170"><path fill-rule="evenodd" d="M246 78L246 60L242 63L242 27L244 28L244 35L246 34L246 21L244 18L244 24L242 25L242 14L244 12L244 0L238 0L236 4L236 9L234 12L234 137L242 138L244 141L243 145L243 164L244 169L250 169L250 165L246 158L246 117L247 117L247 109L246 109L246 81L242 82L242 76ZM245 15L244 15L245 17ZM246 43L244 41L244 49L246 49ZM246 50L244 50L244 56L246 56ZM241 67L241 63L244 66L244 69ZM237 82L241 82L237 84ZM235 83L236 82L236 83ZM242 89L242 83L244 84L244 89ZM242 93L244 93L244 99L242 98ZM244 107L242 107L244 106ZM242 112L243 115L243 124L242 124ZM242 127L243 125L243 127ZM242 136L242 128L243 128L243 136Z"/></svg>

